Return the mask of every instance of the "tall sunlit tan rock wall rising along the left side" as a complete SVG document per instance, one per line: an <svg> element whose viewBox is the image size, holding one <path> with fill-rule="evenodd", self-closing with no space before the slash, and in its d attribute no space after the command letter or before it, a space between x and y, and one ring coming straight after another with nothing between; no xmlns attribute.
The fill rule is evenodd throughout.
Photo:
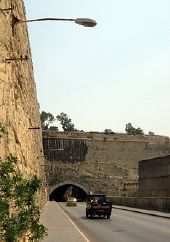
<svg viewBox="0 0 170 242"><path fill-rule="evenodd" d="M45 180L27 25L13 22L14 17L25 19L24 4L22 0L0 1L0 8L0 125L6 130L0 138L0 157L3 160L12 153L21 161L18 168L25 177L36 174ZM45 196L44 189L40 196Z"/></svg>

